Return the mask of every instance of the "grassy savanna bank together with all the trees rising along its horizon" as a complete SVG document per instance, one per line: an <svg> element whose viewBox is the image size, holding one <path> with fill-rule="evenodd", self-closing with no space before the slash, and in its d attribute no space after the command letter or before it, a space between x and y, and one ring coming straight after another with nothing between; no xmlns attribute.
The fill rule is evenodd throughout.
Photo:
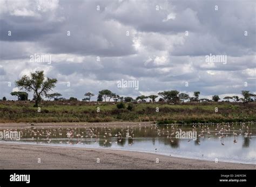
<svg viewBox="0 0 256 187"><path fill-rule="evenodd" d="M96 102L90 102L95 96L91 92L86 92L82 101L75 97L62 98L61 93L50 93L57 81L56 78L45 77L44 71L35 71L17 80L15 84L22 91L10 93L18 97L16 101L5 97L0 100L0 123L154 121L158 124L191 124L256 120L256 95L247 90L241 91L242 98L226 96L226 102L218 102L218 95L212 96L212 100L199 99L200 91L194 91L194 97L170 90L133 99L105 89L98 92ZM25 91L33 93L32 100L28 100ZM147 98L150 98L149 102ZM110 102L111 99L114 102Z"/></svg>

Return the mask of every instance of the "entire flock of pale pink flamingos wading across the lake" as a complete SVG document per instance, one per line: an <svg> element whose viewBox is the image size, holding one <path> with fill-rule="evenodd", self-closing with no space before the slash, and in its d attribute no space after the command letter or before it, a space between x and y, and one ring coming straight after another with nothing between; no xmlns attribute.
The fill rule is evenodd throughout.
<svg viewBox="0 0 256 187"><path fill-rule="evenodd" d="M245 137L251 137L252 130L250 125L253 125L254 122L250 121L248 123L193 123L189 127L184 128L183 130L197 132L197 143L200 144L200 139L204 139L205 136L210 139L211 134L218 136L220 139L221 145L225 145L225 138L227 136L233 136L233 142L237 143L237 136L244 135ZM238 128L237 128L238 126ZM108 143L109 145L114 143L122 142L123 139L129 139L129 145L131 146L134 141L134 134L137 134L137 137L140 138L142 130L147 132L151 130L151 133L154 132L156 136L164 136L167 139L170 139L171 142L174 141L177 131L181 131L181 126L177 124L170 124L166 126L158 126L156 124L141 125L118 125L116 130L116 125L110 127L108 124L101 125L75 125L75 127L64 128L46 128L46 127L35 127L31 124L31 127L21 128L22 138L29 138L31 140L46 140L48 143L52 139L59 139L59 143L63 143L65 140L69 144L82 143L84 140L93 140L95 142L103 140L103 144ZM136 133L136 129L139 130L139 133ZM7 129L5 132L17 132L17 129ZM148 131L149 133L149 131ZM150 134L147 134L150 136ZM152 135L152 134L151 134ZM191 137L192 139L192 137ZM190 142L191 139L188 139L187 142ZM75 141L74 141L75 140Z"/></svg>

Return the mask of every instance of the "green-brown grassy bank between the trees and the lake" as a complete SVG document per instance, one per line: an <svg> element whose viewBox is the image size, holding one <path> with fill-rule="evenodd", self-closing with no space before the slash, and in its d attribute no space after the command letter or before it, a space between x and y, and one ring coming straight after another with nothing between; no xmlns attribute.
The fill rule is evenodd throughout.
<svg viewBox="0 0 256 187"><path fill-rule="evenodd" d="M132 105L132 109L127 109ZM158 123L204 123L256 121L256 103L125 103L118 109L116 103L95 102L0 102L0 123L43 122L107 122L107 121L158 121ZM99 112L97 112L99 107ZM156 112L159 107L159 112ZM215 112L218 107L218 112Z"/></svg>

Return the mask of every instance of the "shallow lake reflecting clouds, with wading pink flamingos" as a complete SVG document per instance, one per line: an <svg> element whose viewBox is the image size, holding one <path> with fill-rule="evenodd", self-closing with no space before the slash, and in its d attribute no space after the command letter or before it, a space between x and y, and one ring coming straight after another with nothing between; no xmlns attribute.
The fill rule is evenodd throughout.
<svg viewBox="0 0 256 187"><path fill-rule="evenodd" d="M139 123L138 123L139 124ZM21 140L52 146L122 149L169 156L256 164L256 124L76 125L5 129L21 132Z"/></svg>

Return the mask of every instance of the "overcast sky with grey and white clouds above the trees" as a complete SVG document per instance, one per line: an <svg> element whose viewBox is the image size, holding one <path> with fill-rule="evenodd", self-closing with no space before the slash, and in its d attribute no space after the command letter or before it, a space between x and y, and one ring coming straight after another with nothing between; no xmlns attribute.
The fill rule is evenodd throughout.
<svg viewBox="0 0 256 187"><path fill-rule="evenodd" d="M53 92L65 98L256 93L255 12L255 1L0 0L0 97L16 99L15 81L35 70L57 78ZM210 54L227 61L207 62ZM122 79L139 89L118 88Z"/></svg>

